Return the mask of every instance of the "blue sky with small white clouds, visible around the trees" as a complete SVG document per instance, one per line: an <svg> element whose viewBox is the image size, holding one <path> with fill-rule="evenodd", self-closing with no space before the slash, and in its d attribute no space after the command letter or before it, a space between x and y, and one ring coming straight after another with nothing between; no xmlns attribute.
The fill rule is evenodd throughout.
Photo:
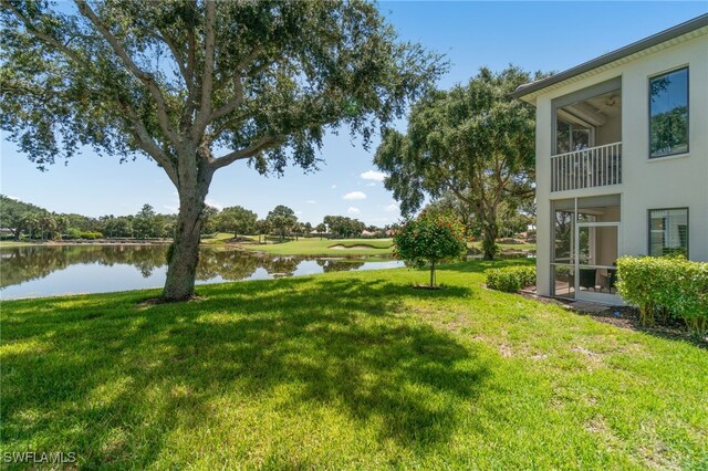
<svg viewBox="0 0 708 471"><path fill-rule="evenodd" d="M420 42L447 55L450 72L439 86L450 87L480 66L502 70L512 63L529 71L561 71L708 11L694 2L381 2L379 9L403 40ZM402 123L402 125L405 125ZM384 226L399 219L383 188L369 151L348 134L327 136L320 171L290 168L282 178L262 177L244 163L219 170L207 201L240 205L266 217L277 205L291 207L303 221L344 214ZM90 150L67 166L37 170L4 134L0 192L58 212L87 216L135 213L144 203L176 212L175 188L152 161L118 164Z"/></svg>

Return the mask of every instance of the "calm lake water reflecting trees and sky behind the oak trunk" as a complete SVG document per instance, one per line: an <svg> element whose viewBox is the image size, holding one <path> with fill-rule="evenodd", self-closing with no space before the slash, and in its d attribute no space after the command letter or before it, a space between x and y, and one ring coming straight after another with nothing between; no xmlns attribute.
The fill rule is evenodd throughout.
<svg viewBox="0 0 708 471"><path fill-rule="evenodd" d="M0 299L162 287L166 245L27 245L0 248ZM197 284L268 280L333 271L404 266L391 259L283 257L204 248Z"/></svg>

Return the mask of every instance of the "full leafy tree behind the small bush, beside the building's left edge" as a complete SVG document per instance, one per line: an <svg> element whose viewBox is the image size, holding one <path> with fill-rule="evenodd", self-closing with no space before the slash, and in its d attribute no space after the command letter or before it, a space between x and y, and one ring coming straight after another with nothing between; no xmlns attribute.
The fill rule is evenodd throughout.
<svg viewBox="0 0 708 471"><path fill-rule="evenodd" d="M425 195L450 191L473 212L485 257L493 258L497 208L534 193L534 112L509 95L529 81L518 67L481 69L466 86L420 100L406 134L384 134L374 161L388 175L384 185L404 214L417 211Z"/></svg>

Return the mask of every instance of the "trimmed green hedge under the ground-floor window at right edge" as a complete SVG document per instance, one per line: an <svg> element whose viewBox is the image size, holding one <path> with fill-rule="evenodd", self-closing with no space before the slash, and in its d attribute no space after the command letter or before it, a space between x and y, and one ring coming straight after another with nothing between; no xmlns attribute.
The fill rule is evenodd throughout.
<svg viewBox="0 0 708 471"><path fill-rule="evenodd" d="M617 290L639 308L642 323L656 316L684 320L691 333L708 333L708 263L685 257L623 257L617 260Z"/></svg>

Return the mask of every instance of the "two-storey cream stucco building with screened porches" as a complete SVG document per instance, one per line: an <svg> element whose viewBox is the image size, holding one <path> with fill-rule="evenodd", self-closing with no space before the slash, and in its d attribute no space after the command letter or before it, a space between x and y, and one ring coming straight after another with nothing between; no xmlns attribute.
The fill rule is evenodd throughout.
<svg viewBox="0 0 708 471"><path fill-rule="evenodd" d="M514 96L537 108L539 294L617 303L618 257L708 261L708 14Z"/></svg>

